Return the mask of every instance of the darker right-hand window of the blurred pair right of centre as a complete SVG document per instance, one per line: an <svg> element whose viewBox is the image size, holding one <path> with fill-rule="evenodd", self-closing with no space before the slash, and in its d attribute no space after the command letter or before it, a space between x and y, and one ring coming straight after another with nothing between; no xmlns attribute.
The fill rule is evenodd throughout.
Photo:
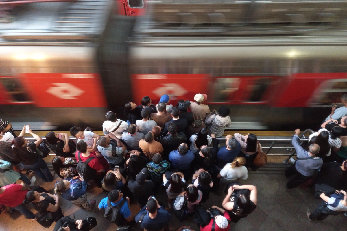
<svg viewBox="0 0 347 231"><path fill-rule="evenodd" d="M247 86L249 92L248 102L260 102L264 101L263 96L266 90L271 85L271 78L259 78L252 81L251 84Z"/></svg>

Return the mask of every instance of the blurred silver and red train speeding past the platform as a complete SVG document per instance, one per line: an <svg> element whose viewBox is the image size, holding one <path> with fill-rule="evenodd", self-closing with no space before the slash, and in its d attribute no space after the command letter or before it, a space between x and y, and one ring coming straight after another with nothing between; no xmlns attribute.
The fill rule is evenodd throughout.
<svg viewBox="0 0 347 231"><path fill-rule="evenodd" d="M13 10L0 23L0 118L101 129L127 101L206 93L235 129L315 129L347 94L346 1L147 1L145 17L117 5Z"/></svg>

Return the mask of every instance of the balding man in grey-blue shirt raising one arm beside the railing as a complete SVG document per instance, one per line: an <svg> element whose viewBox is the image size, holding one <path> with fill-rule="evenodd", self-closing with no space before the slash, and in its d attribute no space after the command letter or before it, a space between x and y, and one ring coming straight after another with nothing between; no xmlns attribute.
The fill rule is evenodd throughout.
<svg viewBox="0 0 347 231"><path fill-rule="evenodd" d="M311 144L307 151L300 145L299 141L300 129L295 130L293 140L291 143L295 147L297 158L294 165L290 166L285 171L286 177L295 175L295 177L288 181L288 188L295 188L306 180L310 179L316 170L320 169L323 165L323 160L315 155L319 152L320 148L318 144Z"/></svg>

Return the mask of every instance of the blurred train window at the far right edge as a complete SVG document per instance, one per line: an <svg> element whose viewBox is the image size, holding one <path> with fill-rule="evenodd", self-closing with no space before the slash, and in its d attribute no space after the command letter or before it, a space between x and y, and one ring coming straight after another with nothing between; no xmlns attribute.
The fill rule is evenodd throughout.
<svg viewBox="0 0 347 231"><path fill-rule="evenodd" d="M347 94L347 79L333 79L322 83L322 88L312 99L313 105L341 104L341 96Z"/></svg>

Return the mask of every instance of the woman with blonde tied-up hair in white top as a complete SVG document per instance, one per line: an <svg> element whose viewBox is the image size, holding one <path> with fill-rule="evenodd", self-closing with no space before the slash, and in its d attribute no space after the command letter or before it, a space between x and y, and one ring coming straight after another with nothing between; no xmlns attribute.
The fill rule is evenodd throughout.
<svg viewBox="0 0 347 231"><path fill-rule="evenodd" d="M244 166L245 164L246 159L244 157L236 157L232 163L227 163L217 176L221 178L220 183L229 185L232 181L238 178L247 180L248 171Z"/></svg>

